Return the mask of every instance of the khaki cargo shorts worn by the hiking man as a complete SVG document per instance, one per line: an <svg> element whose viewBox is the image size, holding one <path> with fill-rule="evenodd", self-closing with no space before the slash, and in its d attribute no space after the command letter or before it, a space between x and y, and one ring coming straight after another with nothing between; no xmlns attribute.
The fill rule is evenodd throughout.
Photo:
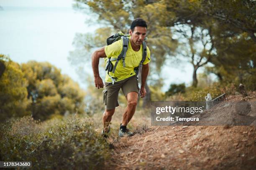
<svg viewBox="0 0 256 170"><path fill-rule="evenodd" d="M138 80L136 75L131 76L125 80L121 80L112 84L112 82L105 82L103 90L103 103L107 110L114 109L119 106L118 93L122 88L125 97L129 92L137 92L139 94L140 88L138 87Z"/></svg>

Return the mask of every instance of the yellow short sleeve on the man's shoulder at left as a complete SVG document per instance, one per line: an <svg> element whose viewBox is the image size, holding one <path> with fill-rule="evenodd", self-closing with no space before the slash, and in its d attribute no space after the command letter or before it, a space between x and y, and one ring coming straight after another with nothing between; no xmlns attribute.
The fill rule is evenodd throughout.
<svg viewBox="0 0 256 170"><path fill-rule="evenodd" d="M113 44L105 46L104 51L106 56L110 58L110 57L119 55L122 52L122 48L123 48L123 42L121 40L118 40Z"/></svg>

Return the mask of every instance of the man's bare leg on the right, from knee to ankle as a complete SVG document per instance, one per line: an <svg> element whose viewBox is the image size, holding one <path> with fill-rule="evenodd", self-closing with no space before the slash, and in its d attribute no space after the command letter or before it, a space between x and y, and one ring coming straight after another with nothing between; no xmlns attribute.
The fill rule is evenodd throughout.
<svg viewBox="0 0 256 170"><path fill-rule="evenodd" d="M126 126L128 122L130 122L131 118L133 117L137 101L138 101L138 93L137 92L129 92L126 96L126 100L128 102L127 107L125 108L124 114L123 114L123 121L122 125Z"/></svg>

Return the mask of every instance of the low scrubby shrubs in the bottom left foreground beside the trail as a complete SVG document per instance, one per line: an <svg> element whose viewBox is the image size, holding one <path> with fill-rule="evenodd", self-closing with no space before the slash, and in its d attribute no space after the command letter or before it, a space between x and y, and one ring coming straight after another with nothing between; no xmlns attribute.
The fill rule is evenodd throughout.
<svg viewBox="0 0 256 170"><path fill-rule="evenodd" d="M34 127L38 129L37 133L33 130ZM48 127L47 130L40 129L42 130L41 125L29 117L2 125L2 160L31 160L34 169L104 167L104 162L108 159L108 146L105 140L95 133L92 123L71 117L54 127Z"/></svg>

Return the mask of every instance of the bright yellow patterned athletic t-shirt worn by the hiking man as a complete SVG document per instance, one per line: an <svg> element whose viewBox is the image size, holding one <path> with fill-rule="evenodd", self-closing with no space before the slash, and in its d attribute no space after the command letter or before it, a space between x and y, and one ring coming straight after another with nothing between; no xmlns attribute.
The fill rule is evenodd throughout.
<svg viewBox="0 0 256 170"><path fill-rule="evenodd" d="M118 65L116 66L115 73L113 74L113 72L109 72L109 75L111 75L112 77L118 78L117 80L115 80L116 82L125 80L128 77L136 75L133 69L135 67L138 67L138 65L142 60L142 52L143 52L142 44L141 44L140 50L134 51L131 47L131 40L130 40L131 37L128 37L128 38L129 38L129 43L128 43L128 50L125 55L125 67L123 67L123 59L121 59L119 60ZM104 50L105 50L105 54L107 55L107 57L105 58L105 63L110 57L117 58L118 55L121 53L122 49L123 49L122 39L114 42L113 44L105 46ZM148 59L150 59L150 51L147 47L147 56L146 56L146 60L143 62L143 65L150 62L150 60ZM111 62L114 67L116 60ZM112 82L109 75L108 75L108 71L106 71L105 82Z"/></svg>

